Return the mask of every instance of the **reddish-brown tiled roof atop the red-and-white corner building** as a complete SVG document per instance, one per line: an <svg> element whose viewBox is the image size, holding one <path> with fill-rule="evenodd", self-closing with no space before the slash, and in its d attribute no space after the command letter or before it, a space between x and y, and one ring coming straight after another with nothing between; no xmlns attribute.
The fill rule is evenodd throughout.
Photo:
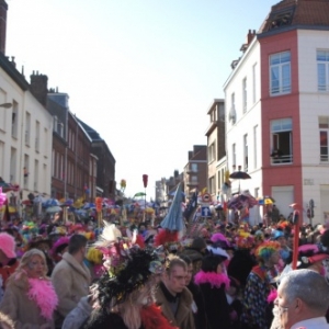
<svg viewBox="0 0 329 329"><path fill-rule="evenodd" d="M259 33L287 26L326 26L329 29L329 0L283 0L271 8Z"/></svg>

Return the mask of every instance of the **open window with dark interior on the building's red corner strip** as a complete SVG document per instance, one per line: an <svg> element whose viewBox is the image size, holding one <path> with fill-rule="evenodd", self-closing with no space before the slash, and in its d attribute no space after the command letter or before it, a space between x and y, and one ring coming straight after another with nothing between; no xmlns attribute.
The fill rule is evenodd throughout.
<svg viewBox="0 0 329 329"><path fill-rule="evenodd" d="M293 162L293 122L291 118L271 122L272 164Z"/></svg>

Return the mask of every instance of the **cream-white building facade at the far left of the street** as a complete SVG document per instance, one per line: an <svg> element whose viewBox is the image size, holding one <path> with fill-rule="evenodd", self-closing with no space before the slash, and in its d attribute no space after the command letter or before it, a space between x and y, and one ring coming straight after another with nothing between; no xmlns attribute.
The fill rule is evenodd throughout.
<svg viewBox="0 0 329 329"><path fill-rule="evenodd" d="M30 193L50 196L53 117L29 88L0 53L0 177L20 186L16 203Z"/></svg>

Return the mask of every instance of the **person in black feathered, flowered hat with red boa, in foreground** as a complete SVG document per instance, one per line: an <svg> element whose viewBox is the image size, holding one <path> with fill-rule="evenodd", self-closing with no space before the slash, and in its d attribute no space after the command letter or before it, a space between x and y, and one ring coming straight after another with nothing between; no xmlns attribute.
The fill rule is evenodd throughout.
<svg viewBox="0 0 329 329"><path fill-rule="evenodd" d="M92 286L94 310L83 328L172 329L155 305L155 286L162 273L160 253L141 249L121 232L102 238L97 246L106 271Z"/></svg>

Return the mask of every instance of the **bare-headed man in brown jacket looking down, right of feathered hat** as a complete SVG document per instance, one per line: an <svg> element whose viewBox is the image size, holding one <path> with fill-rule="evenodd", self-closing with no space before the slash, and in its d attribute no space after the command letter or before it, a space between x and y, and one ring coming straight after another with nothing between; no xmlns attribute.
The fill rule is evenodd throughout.
<svg viewBox="0 0 329 329"><path fill-rule="evenodd" d="M185 286L188 264L178 257L167 260L166 272L156 293L157 304L172 326L194 329L193 297Z"/></svg>

